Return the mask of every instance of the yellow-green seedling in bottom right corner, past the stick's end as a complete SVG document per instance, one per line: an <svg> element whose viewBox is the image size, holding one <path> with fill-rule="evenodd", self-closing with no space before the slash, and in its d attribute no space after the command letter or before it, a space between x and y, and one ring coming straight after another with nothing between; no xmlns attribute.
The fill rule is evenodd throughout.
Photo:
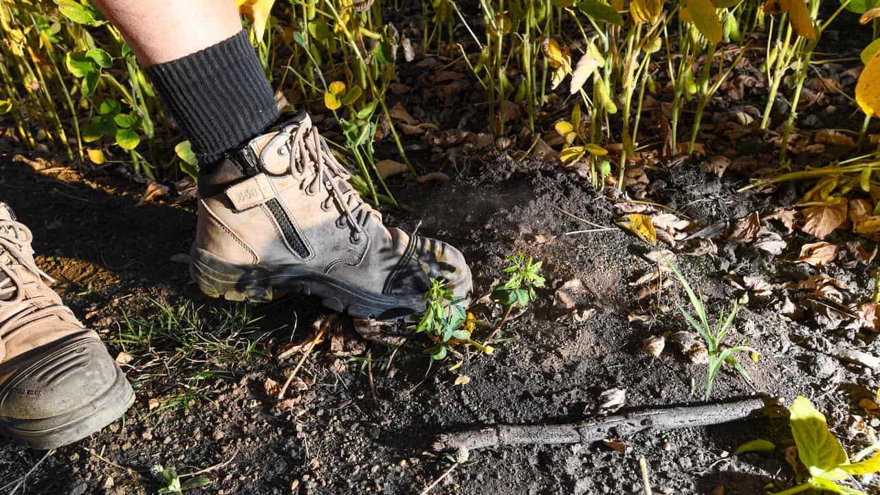
<svg viewBox="0 0 880 495"><path fill-rule="evenodd" d="M807 490L865 495L863 491L839 482L853 475L880 471L880 452L862 462L850 462L840 440L828 430L825 416L806 397L797 397L791 405L789 423L797 445L797 456L807 469L806 481L776 495L791 495Z"/></svg>

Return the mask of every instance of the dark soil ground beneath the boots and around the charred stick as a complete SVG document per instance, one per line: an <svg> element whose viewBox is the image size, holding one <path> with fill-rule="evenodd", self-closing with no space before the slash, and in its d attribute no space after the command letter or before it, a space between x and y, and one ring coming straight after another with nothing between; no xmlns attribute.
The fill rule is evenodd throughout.
<svg viewBox="0 0 880 495"><path fill-rule="evenodd" d="M826 34L824 43L841 57L857 56L863 46L840 32ZM748 100L752 90L744 91ZM839 94L827 99L802 115L804 133L857 129L861 117L852 117L851 102ZM421 103L429 108L427 101ZM417 97L407 102L421 103ZM760 218L772 216L803 194L793 185L772 194L736 192L777 156L778 135L772 132L748 132L732 144L722 136L725 115L751 112L744 104L714 104L715 125L700 137L706 158L645 170L648 180L630 188L641 202L623 203L689 218L687 237L676 240L675 262L704 294L710 317L748 296L729 340L747 341L760 352L757 362L742 359L754 389L722 372L713 401L759 394L788 405L805 395L855 452L867 445L864 425L880 425L862 405L876 397L880 377L876 369L839 356L878 356L880 342L840 317L839 306L810 299L798 284L820 274L832 277L846 286L838 302L851 305L870 298L876 262L853 262L841 251L823 268L794 263L801 246L815 239L788 232L776 220L762 219L761 226L785 240L778 255L727 237L735 220L755 211ZM418 116L454 126L460 109ZM730 173L718 178L700 170L701 161L731 149L736 166ZM162 465L180 474L207 469L212 483L186 491L193 495L413 494L450 466L429 448L440 432L593 417L600 395L612 388L626 389L622 411L702 398L705 365L677 351L658 358L642 352L646 337L686 329L675 307L676 301L686 304L678 284L646 293L640 282L659 270L649 261L659 247L617 228L615 220L629 211L555 161L502 152L444 166L451 181L392 181L407 210L385 212L387 223L412 231L421 220L419 233L460 247L478 296L500 277L506 256L522 251L544 262L546 288L533 307L514 315L494 354L466 354L451 371L458 358L429 367L430 358L419 352L427 343L417 338L393 352L349 332L343 353L332 354L327 344L317 347L294 382L290 402L280 405L267 393L268 380L282 382L299 354L277 356L310 336L326 310L308 298L267 305L208 299L187 271L192 200L176 203L176 196L167 196L139 204L144 184L112 164L81 174L26 153L14 158L22 152L14 147L2 151L0 199L33 230L38 264L58 280L55 288L77 315L99 330L111 354L120 356L137 389L135 406L123 419L45 458L0 439L0 486L36 466L19 493L156 493L162 484L149 470ZM800 168L829 163L840 150L795 156L793 166ZM698 234L713 225L724 234ZM590 232L576 233L584 230ZM838 232L828 240L856 238ZM866 249L876 248L876 242L862 241ZM788 303L803 311L792 311ZM478 311L494 321L500 315L493 307ZM455 384L462 375L470 381ZM775 451L734 454L759 438L773 440ZM642 433L623 444L623 452L603 442L476 451L431 493L642 493L642 456L655 493L753 494L796 484L784 454L792 445L784 419ZM862 477L862 490L880 493L880 479Z"/></svg>

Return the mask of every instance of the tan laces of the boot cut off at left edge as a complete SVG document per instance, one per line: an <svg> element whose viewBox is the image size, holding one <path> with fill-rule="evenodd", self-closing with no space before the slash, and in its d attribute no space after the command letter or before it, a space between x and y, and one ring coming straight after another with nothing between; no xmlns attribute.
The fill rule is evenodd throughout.
<svg viewBox="0 0 880 495"><path fill-rule="evenodd" d="M26 282L13 270L16 266L23 267L38 279L55 282L25 254L25 247L31 240L33 234L25 225L15 220L0 220L0 310L9 314L0 324L0 360L5 353L4 338L9 338L12 332L50 315L62 317L62 313L70 313L70 309L48 295L26 297Z"/></svg>

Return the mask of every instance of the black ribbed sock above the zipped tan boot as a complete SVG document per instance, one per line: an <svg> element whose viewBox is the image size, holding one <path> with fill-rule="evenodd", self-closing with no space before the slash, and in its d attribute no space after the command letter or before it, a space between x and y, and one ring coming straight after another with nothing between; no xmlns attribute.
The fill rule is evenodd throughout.
<svg viewBox="0 0 880 495"><path fill-rule="evenodd" d="M278 118L275 96L247 32L147 68L165 107L204 167Z"/></svg>

